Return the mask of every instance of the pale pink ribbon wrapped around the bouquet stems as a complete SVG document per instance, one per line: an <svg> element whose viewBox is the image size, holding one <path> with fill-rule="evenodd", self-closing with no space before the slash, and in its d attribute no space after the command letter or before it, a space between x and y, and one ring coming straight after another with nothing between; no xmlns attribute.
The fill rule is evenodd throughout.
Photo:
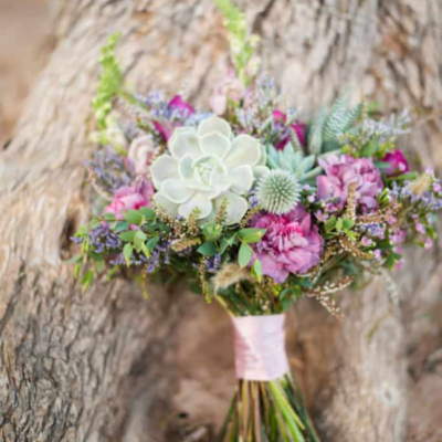
<svg viewBox="0 0 442 442"><path fill-rule="evenodd" d="M271 381L288 371L285 315L233 317L236 377Z"/></svg>

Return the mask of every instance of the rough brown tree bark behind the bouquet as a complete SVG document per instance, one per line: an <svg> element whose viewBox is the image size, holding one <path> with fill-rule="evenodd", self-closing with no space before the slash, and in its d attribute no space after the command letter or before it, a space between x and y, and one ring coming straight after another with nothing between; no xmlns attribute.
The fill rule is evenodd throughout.
<svg viewBox="0 0 442 442"><path fill-rule="evenodd" d="M407 149L442 170L438 0L238 3L291 104L350 90L419 109ZM56 48L0 154L0 438L210 440L206 425L220 423L234 385L225 315L178 287L152 288L148 302L124 281L82 295L65 260L87 217L82 160L99 48L122 31L129 83L183 88L203 105L224 72L220 15L208 0L66 0L52 12ZM291 314L291 360L324 441L442 439L422 419L425 392L442 389L427 376L440 377L441 324L422 319L440 308L439 250L410 254L400 307L378 281L343 294L340 324L309 301Z"/></svg>

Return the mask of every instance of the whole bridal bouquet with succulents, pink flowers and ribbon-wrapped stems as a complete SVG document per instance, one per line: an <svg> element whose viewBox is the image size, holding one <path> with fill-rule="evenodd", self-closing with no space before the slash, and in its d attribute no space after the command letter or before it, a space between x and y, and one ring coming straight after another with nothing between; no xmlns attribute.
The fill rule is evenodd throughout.
<svg viewBox="0 0 442 442"><path fill-rule="evenodd" d="M218 4L231 66L208 110L128 92L117 36L103 49L94 214L72 261L84 290L105 272L145 293L147 278L182 277L225 308L239 381L221 441L318 441L287 364L284 313L313 296L339 316L336 293L401 266L404 243L431 248L442 189L397 148L407 113L382 118L338 98L302 120L257 74L244 15Z"/></svg>

